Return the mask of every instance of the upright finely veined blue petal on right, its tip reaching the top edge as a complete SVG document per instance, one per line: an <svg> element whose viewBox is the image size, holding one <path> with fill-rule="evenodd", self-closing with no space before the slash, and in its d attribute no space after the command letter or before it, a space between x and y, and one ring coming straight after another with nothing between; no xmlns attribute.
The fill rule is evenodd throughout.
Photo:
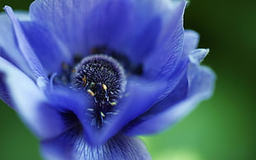
<svg viewBox="0 0 256 160"><path fill-rule="evenodd" d="M168 24L165 25L170 29L163 29L164 32L161 32L158 48L145 60L145 78L154 81L168 81L168 85L159 100L172 92L186 73L189 60L187 55L183 53L183 12L185 6L186 2L173 2L173 9L170 10L175 12L169 17Z"/></svg>

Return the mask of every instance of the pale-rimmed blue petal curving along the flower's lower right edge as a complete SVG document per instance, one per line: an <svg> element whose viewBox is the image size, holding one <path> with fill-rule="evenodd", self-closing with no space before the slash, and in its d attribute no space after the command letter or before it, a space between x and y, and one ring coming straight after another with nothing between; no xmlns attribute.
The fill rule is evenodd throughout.
<svg viewBox="0 0 256 160"><path fill-rule="evenodd" d="M204 54L206 54L207 50L204 50ZM195 54L198 54L198 50L195 51L193 55ZM188 90L186 98L173 104L169 103L170 100L167 96L166 99L154 106L158 107L158 105L161 105L160 107L166 108L164 112L156 112L154 113L154 116L151 115L140 119L141 121L135 121L136 124L131 124L131 126L134 126L133 128L130 128L130 130L126 129L126 134L137 135L157 133L183 118L187 113L192 111L200 101L211 97L216 76L210 68L201 67L198 63L192 61L187 69L187 80Z"/></svg>

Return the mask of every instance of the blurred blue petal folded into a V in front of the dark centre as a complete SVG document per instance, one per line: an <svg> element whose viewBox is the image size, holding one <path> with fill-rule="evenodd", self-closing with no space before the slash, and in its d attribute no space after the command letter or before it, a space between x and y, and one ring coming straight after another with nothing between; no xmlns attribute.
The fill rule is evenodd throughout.
<svg viewBox="0 0 256 160"><path fill-rule="evenodd" d="M62 113L60 115L64 115L62 119L66 120L64 124L69 124L67 128L81 128L76 132L83 130L88 144L97 145L111 139L130 120L134 120L147 111L158 101L159 96L165 90L166 83L147 82L135 78L130 80L127 95L117 103L118 114L111 116L101 129L95 129L92 125L92 118L88 115L88 108L92 104L84 94L80 95L64 88L55 88L53 92L47 90L46 96L52 106Z"/></svg>

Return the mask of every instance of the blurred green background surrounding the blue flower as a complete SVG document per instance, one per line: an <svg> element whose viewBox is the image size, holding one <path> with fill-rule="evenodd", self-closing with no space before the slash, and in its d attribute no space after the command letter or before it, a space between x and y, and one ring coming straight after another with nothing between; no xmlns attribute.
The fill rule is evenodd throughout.
<svg viewBox="0 0 256 160"><path fill-rule="evenodd" d="M31 2L0 4L27 10ZM256 1L191 0L184 26L211 49L203 64L217 74L216 92L172 128L142 137L149 152L156 160L256 159ZM40 159L38 140L2 102L0 110L0 159Z"/></svg>

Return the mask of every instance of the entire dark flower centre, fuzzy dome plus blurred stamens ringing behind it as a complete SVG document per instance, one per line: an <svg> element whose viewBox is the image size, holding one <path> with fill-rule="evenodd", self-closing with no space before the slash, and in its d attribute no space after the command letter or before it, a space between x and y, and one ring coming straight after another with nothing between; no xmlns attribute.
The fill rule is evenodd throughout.
<svg viewBox="0 0 256 160"><path fill-rule="evenodd" d="M52 85L71 87L88 96L92 105L87 108L85 116L97 129L112 115L118 114L120 107L116 104L124 95L126 76L144 74L142 64L131 62L126 54L107 45L92 48L85 58L82 54L75 54L73 63L63 62L61 68L61 73L49 75Z"/></svg>

